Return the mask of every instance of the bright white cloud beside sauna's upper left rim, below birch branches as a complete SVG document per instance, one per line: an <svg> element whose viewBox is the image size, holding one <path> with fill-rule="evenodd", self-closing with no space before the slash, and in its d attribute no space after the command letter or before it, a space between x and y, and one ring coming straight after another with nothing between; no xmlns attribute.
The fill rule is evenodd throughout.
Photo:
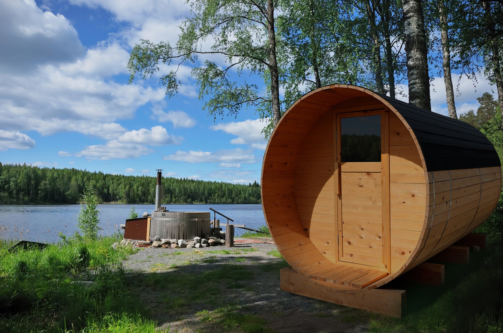
<svg viewBox="0 0 503 333"><path fill-rule="evenodd" d="M244 145L248 144L254 149L266 149L267 140L264 134L261 133L262 129L267 125L268 119L245 120L244 122L237 123L220 123L213 125L211 128L215 131L223 131L237 136L230 141L231 144Z"/></svg>

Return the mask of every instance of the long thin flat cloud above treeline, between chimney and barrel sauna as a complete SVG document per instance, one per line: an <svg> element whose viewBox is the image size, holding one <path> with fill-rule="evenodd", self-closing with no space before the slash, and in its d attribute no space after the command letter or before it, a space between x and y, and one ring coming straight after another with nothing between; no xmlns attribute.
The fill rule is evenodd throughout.
<svg viewBox="0 0 503 333"><path fill-rule="evenodd" d="M187 163L255 163L257 159L250 150L234 149L220 150L214 153L189 150L177 151L173 155L165 156L165 160L181 161Z"/></svg>

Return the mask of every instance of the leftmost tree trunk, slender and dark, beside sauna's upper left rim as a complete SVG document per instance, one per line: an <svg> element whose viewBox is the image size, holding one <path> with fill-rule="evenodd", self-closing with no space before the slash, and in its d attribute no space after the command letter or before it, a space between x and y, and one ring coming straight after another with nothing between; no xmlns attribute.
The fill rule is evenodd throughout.
<svg viewBox="0 0 503 333"><path fill-rule="evenodd" d="M273 124L276 126L281 118L281 105L278 61L276 59L273 0L267 0L267 33L269 37L269 70L271 71L271 104L273 109Z"/></svg>

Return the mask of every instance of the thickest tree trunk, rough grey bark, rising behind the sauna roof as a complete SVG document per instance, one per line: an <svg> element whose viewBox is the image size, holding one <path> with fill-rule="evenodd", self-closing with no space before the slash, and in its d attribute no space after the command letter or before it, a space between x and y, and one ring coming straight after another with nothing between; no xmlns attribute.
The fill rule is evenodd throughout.
<svg viewBox="0 0 503 333"><path fill-rule="evenodd" d="M403 0L409 103L431 111L425 21L421 0Z"/></svg>

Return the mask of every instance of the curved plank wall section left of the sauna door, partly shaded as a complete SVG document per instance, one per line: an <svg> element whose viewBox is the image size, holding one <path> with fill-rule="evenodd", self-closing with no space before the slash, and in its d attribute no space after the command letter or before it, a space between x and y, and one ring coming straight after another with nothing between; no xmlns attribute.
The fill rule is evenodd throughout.
<svg viewBox="0 0 503 333"><path fill-rule="evenodd" d="M302 225L314 246L336 263L337 233L334 198L332 112L313 125L297 159L295 200Z"/></svg>

